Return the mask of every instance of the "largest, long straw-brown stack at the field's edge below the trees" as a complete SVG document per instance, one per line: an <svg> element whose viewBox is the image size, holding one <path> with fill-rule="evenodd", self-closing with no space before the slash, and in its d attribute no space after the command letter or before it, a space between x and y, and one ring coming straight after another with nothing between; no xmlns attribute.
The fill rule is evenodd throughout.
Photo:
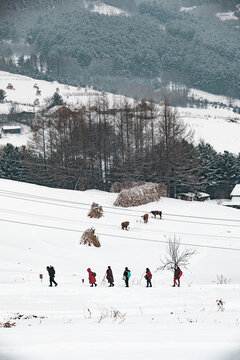
<svg viewBox="0 0 240 360"><path fill-rule="evenodd" d="M139 206L158 201L160 196L167 196L166 186L149 182L131 189L122 190L114 202L114 205L123 207Z"/></svg>

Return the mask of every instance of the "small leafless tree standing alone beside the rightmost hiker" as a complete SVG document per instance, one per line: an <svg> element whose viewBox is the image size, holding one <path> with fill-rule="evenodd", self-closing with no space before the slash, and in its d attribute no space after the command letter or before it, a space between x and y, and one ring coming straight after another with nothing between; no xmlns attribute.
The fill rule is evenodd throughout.
<svg viewBox="0 0 240 360"><path fill-rule="evenodd" d="M180 240L177 240L174 235L173 240L171 237L168 239L165 258L161 259L161 265L157 270L172 270L176 266L186 269L189 265L189 260L195 254L197 254L196 250L181 249Z"/></svg>

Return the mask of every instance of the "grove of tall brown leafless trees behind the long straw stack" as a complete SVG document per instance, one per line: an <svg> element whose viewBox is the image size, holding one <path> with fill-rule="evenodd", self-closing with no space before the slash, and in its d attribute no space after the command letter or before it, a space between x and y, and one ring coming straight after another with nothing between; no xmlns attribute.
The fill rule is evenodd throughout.
<svg viewBox="0 0 240 360"><path fill-rule="evenodd" d="M116 181L144 180L165 183L175 196L200 185L192 136L166 100L110 104L102 94L74 111L42 111L27 153L55 186L109 190Z"/></svg>

